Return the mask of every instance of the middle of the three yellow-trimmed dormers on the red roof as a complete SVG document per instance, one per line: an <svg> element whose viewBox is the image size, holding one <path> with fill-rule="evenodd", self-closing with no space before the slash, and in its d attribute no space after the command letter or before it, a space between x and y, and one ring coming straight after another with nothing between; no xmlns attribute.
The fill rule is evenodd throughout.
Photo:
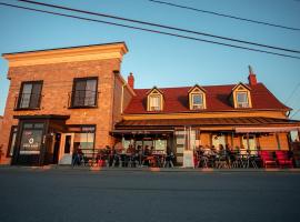
<svg viewBox="0 0 300 222"><path fill-rule="evenodd" d="M206 90L198 84L189 90L190 110L202 110L207 108Z"/></svg>

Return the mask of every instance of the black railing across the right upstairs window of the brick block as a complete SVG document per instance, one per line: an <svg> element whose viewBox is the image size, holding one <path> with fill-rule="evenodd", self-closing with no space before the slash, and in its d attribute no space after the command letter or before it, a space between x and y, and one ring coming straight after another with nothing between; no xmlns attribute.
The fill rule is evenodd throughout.
<svg viewBox="0 0 300 222"><path fill-rule="evenodd" d="M92 90L76 90L69 92L69 108L92 108L98 105L98 91Z"/></svg>

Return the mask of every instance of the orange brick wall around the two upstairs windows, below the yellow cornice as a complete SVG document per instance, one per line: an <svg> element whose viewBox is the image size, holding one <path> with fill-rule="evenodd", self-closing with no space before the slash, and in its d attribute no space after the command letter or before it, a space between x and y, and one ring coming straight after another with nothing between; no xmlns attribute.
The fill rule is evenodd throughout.
<svg viewBox="0 0 300 222"><path fill-rule="evenodd" d="M96 148L112 145L113 139L109 135L109 131L112 130L113 70L120 70L119 59L10 68L8 74L10 89L3 115L3 129L0 133L0 144L3 144L4 152L7 152L11 125L18 124L13 115L24 114L63 114L70 115L67 124L96 124ZM98 77L98 108L68 109L73 78L86 77ZM43 80L41 109L14 111L21 82L38 80ZM119 91L117 90L116 93L118 94Z"/></svg>

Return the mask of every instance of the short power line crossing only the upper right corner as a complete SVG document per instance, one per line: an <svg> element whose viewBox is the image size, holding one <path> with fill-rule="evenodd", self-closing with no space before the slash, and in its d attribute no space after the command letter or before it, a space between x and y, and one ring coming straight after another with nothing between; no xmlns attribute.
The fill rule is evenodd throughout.
<svg viewBox="0 0 300 222"><path fill-rule="evenodd" d="M160 3L160 4L167 4L170 7L188 9L188 10L192 10L192 11L197 11L197 12L209 13L209 14L213 14L213 16L218 16L218 17L236 19L236 20L240 20L240 21L247 21L247 22L252 22L252 23L258 23L258 24L263 24L263 26L269 26L269 27L276 27L276 28L281 28L281 29L288 29L288 30L292 30L292 31L300 31L300 28L287 27L287 26L282 26L282 24L276 24L276 23L270 23L270 22L259 21L259 20L253 20L253 19L246 19L246 18L220 13L220 12L216 12L216 11L209 11L209 10L197 9L197 8L187 7L187 6L182 6L182 4L176 4L176 3L171 3L171 2L167 2L167 1L158 1L158 0L149 0L149 1L154 2L154 3Z"/></svg>

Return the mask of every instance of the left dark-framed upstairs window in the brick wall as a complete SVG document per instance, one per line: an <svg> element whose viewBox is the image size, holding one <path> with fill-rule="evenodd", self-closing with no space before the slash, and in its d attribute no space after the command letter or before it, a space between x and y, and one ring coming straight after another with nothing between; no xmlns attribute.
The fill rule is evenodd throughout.
<svg viewBox="0 0 300 222"><path fill-rule="evenodd" d="M41 101L42 81L23 82L19 94L18 109L38 109Z"/></svg>

